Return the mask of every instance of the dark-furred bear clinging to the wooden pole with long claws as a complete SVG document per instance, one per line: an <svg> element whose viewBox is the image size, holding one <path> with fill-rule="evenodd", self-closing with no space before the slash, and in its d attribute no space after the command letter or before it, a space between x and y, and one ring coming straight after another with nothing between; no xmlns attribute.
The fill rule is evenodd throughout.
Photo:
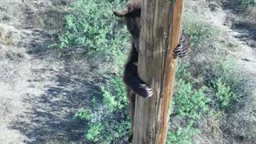
<svg viewBox="0 0 256 144"><path fill-rule="evenodd" d="M130 0L128 4L118 11L114 11L114 14L118 17L124 18L126 22L127 29L132 35L132 49L130 51L130 57L125 66L123 81L126 83L127 96L129 99L130 107L130 120L132 125L132 130L134 126L134 108L135 108L135 96L136 94L142 96L143 98L148 98L152 96L153 91L146 82L143 82L141 78L138 77L138 47L139 47L139 35L141 32L141 0ZM190 50L190 40L185 34L182 34L182 38L174 50L174 58L177 56L182 58L186 56ZM131 142L133 135L130 136L129 141Z"/></svg>

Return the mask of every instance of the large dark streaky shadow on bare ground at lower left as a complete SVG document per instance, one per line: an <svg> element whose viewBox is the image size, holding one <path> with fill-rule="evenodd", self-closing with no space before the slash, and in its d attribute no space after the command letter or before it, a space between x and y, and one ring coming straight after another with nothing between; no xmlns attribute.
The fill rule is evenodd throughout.
<svg viewBox="0 0 256 144"><path fill-rule="evenodd" d="M32 110L24 115L26 121L13 122L12 128L29 138L26 143L78 141L84 134L83 124L72 118L76 110L88 106L90 97L98 94L97 87L84 80L56 77L57 85L44 86L43 94L27 94L24 101L31 104Z"/></svg>

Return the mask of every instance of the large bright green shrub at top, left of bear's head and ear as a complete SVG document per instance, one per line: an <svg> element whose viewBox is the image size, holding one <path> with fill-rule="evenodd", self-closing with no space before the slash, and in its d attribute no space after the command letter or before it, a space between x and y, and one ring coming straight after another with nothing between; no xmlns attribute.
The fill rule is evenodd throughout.
<svg viewBox="0 0 256 144"><path fill-rule="evenodd" d="M122 6L121 0L78 0L70 4L66 25L56 47L82 47L87 56L105 62L122 54L127 40L126 27L115 18L113 10Z"/></svg>

